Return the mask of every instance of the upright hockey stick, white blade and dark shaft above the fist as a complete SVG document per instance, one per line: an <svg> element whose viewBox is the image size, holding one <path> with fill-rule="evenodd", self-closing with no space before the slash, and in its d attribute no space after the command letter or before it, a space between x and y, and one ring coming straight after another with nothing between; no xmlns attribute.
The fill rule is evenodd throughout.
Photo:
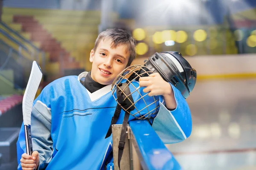
<svg viewBox="0 0 256 170"><path fill-rule="evenodd" d="M29 82L26 86L26 90L22 101L23 123L25 130L26 140L26 153L32 154L32 138L31 138L31 111L35 94L38 90L38 86L42 79L42 71L36 61L33 61L31 73L29 76Z"/></svg>

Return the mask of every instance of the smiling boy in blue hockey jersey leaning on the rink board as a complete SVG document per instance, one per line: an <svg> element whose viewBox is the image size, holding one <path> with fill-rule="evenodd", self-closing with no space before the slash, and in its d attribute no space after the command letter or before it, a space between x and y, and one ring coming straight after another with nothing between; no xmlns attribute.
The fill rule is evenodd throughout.
<svg viewBox="0 0 256 170"><path fill-rule="evenodd" d="M17 142L18 169L104 170L113 161L112 136L105 139L116 109L111 83L134 58L135 40L128 32L108 29L99 34L90 52L91 71L57 79L35 99L31 117L34 152L26 154L22 125ZM152 125L163 142L186 139L192 122L180 92L159 74L139 82L149 96L162 95L165 100Z"/></svg>

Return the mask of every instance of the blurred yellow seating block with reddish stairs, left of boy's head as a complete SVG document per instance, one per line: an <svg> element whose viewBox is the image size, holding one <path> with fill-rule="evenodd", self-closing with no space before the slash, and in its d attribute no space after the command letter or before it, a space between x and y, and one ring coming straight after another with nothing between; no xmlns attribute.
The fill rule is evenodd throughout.
<svg viewBox="0 0 256 170"><path fill-rule="evenodd" d="M49 53L51 62L60 61L62 54L64 63L58 67L64 69L85 67L88 70L85 62L98 35L100 15L99 11L3 8L3 21L12 25L19 23L26 37L40 42L40 48ZM116 13L111 15L118 17ZM18 25L16 29L20 31Z"/></svg>

